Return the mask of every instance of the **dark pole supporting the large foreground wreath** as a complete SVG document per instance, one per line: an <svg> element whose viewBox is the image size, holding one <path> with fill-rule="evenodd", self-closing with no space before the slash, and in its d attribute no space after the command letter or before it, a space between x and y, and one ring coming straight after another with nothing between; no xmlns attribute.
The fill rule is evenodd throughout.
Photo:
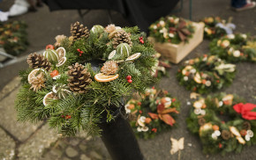
<svg viewBox="0 0 256 160"><path fill-rule="evenodd" d="M124 110L124 107L121 109ZM132 127L121 112L117 113L115 120L101 123L99 126L102 128L102 142L113 160L144 159Z"/></svg>

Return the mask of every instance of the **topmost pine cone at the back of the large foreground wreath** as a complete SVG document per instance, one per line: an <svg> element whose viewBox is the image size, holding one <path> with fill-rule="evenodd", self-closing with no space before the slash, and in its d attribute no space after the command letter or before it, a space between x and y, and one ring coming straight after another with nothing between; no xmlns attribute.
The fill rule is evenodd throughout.
<svg viewBox="0 0 256 160"><path fill-rule="evenodd" d="M90 34L89 30L87 29L87 26L84 26L79 22L76 22L75 24L71 25L71 33L74 41L79 40L83 37L87 39Z"/></svg>

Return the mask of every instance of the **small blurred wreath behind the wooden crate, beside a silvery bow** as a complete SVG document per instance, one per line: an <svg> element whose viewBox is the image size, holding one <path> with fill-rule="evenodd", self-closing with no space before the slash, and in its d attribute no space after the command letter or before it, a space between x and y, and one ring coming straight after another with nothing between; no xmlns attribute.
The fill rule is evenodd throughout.
<svg viewBox="0 0 256 160"><path fill-rule="evenodd" d="M216 26L218 23L222 22L222 18L220 17L207 17L201 20L205 23L204 28L204 38L208 40L213 40L215 38L220 38L224 35L226 35L226 31Z"/></svg>

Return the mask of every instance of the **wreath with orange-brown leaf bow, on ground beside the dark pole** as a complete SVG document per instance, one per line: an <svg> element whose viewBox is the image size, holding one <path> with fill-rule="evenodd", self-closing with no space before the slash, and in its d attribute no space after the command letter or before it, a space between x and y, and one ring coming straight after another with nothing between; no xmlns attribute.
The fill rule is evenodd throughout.
<svg viewBox="0 0 256 160"><path fill-rule="evenodd" d="M149 139L176 125L180 103L168 91L147 89L142 98L132 98L126 105L135 135Z"/></svg>

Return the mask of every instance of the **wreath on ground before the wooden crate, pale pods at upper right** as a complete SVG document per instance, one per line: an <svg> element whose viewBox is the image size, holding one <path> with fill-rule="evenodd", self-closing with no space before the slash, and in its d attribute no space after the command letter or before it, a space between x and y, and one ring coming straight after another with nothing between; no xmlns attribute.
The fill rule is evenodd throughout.
<svg viewBox="0 0 256 160"><path fill-rule="evenodd" d="M226 63L215 55L204 55L188 60L177 71L179 84L199 93L220 90L231 84L236 65Z"/></svg>

